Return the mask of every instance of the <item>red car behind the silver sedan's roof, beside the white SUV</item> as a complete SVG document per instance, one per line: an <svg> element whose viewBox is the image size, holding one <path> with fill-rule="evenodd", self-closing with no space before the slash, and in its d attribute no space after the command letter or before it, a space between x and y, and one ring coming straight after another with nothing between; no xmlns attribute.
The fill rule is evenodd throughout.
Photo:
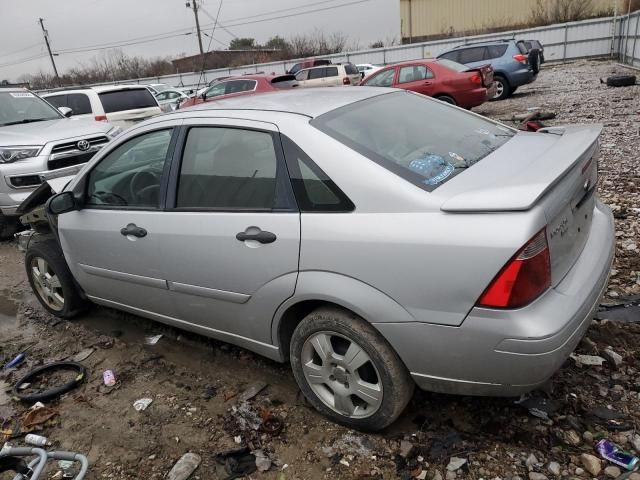
<svg viewBox="0 0 640 480"><path fill-rule="evenodd" d="M273 92L297 87L294 75L241 75L221 80L197 97L191 97L180 104L180 108L192 107L205 102L221 100L223 98L253 95L254 93Z"/></svg>

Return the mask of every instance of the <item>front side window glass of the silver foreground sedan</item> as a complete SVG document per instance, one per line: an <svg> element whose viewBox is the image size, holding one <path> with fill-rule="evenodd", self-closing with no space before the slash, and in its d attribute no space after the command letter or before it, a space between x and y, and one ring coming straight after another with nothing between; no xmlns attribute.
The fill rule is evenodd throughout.
<svg viewBox="0 0 640 480"><path fill-rule="evenodd" d="M159 208L172 130L145 133L98 163L87 180L88 207Z"/></svg>

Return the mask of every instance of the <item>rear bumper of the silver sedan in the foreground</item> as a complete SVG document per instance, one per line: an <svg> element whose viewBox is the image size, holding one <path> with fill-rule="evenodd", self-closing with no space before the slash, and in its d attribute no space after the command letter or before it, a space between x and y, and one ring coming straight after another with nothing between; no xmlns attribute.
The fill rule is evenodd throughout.
<svg viewBox="0 0 640 480"><path fill-rule="evenodd" d="M565 278L518 310L474 308L460 327L387 323L387 338L425 390L518 395L544 384L589 328L615 250L610 210L599 201L584 250Z"/></svg>

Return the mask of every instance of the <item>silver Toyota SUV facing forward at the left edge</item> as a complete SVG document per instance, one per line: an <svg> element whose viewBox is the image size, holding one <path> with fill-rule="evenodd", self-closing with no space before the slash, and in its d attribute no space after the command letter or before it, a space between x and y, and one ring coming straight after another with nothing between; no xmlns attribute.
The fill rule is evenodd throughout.
<svg viewBox="0 0 640 480"><path fill-rule="evenodd" d="M72 114L25 89L0 88L0 239L15 232L16 210L38 185L75 174L122 131Z"/></svg>

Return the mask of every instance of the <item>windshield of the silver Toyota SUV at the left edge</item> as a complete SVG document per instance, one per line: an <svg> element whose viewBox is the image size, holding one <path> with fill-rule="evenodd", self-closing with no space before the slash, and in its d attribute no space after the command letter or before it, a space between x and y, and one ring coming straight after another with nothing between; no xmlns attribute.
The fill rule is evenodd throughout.
<svg viewBox="0 0 640 480"><path fill-rule="evenodd" d="M0 127L64 118L31 92L0 92Z"/></svg>

